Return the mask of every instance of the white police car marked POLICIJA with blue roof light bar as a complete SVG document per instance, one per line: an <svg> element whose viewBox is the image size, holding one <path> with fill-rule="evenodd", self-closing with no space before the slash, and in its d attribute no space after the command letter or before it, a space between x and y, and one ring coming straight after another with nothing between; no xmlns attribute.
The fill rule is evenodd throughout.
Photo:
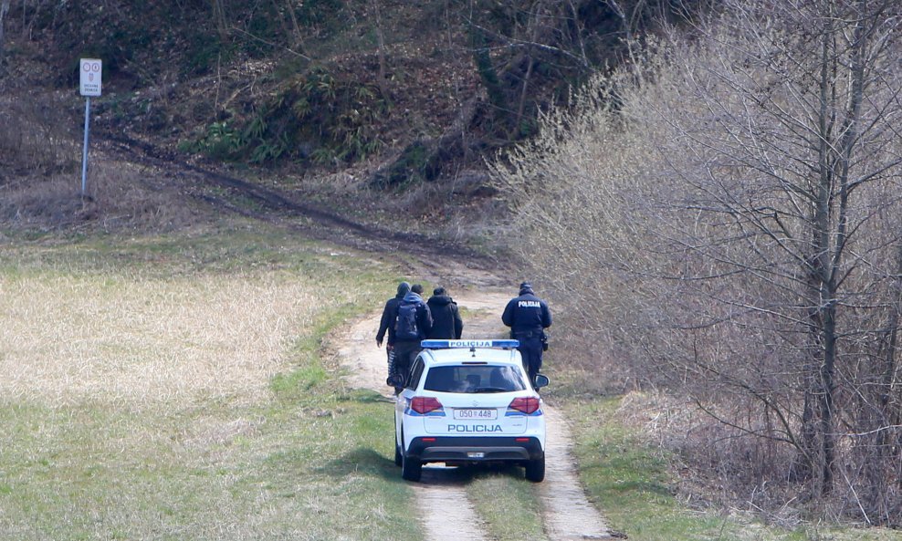
<svg viewBox="0 0 902 541"><path fill-rule="evenodd" d="M423 340L394 408L394 462L419 481L424 463L517 463L545 478L545 415L517 340ZM536 387L548 385L540 375Z"/></svg>

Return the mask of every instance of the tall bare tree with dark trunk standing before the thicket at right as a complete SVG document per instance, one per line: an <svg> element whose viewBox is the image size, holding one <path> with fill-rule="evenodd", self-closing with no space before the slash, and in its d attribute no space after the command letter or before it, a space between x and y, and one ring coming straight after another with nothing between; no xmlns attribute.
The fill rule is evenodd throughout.
<svg viewBox="0 0 902 541"><path fill-rule="evenodd" d="M729 236L692 241L721 272L754 273L798 297L798 304L746 299L739 307L768 310L804 329L802 424L794 441L814 468L816 492L827 494L836 466L837 364L841 342L853 332L840 318L865 295L860 269L877 253L870 224L897 203L863 204L869 186L886 182L900 162L886 152L902 113L899 74L886 71L898 31L896 3L729 4L733 26L709 34L725 51L719 67L695 74L687 86L707 109L703 120L718 130L698 130L698 119L668 119L706 149L696 152L708 160L689 181L697 194L682 206L725 220ZM711 92L718 87L728 92ZM745 182L736 182L741 177ZM727 241L755 256L736 257L720 247ZM773 247L765 251L765 243Z"/></svg>

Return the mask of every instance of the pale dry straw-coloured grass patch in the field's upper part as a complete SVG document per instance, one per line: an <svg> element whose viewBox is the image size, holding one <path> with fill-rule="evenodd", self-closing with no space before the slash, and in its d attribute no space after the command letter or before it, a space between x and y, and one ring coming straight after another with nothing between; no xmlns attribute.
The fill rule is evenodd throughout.
<svg viewBox="0 0 902 541"><path fill-rule="evenodd" d="M295 276L0 278L0 395L259 401L320 291Z"/></svg>

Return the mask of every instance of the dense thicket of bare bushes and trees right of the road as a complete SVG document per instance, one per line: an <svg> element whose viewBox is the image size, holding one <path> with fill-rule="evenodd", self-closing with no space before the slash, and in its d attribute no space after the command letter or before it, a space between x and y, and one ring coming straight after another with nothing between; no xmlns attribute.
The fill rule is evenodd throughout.
<svg viewBox="0 0 902 541"><path fill-rule="evenodd" d="M899 525L900 16L731 0L498 164L584 343L718 419L755 505Z"/></svg>

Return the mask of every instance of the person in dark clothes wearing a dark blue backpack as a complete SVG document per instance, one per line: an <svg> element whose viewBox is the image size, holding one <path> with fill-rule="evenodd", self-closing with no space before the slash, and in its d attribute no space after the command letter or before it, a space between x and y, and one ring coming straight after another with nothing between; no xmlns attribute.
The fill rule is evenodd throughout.
<svg viewBox="0 0 902 541"><path fill-rule="evenodd" d="M410 367L423 349L420 342L432 330L432 313L420 297L422 292L423 286L414 284L395 309L394 373L401 376L393 381L395 394L404 389Z"/></svg>

